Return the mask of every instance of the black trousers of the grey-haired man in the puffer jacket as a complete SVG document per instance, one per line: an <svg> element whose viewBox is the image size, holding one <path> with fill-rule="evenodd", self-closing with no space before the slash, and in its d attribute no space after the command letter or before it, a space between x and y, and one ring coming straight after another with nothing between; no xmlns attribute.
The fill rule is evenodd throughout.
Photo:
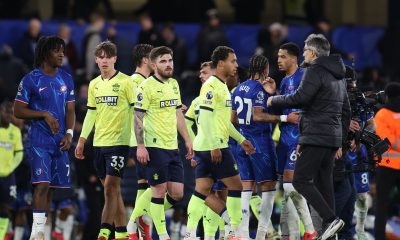
<svg viewBox="0 0 400 240"><path fill-rule="evenodd" d="M301 145L294 169L293 186L321 216L323 223L335 218L333 165L337 148Z"/></svg>

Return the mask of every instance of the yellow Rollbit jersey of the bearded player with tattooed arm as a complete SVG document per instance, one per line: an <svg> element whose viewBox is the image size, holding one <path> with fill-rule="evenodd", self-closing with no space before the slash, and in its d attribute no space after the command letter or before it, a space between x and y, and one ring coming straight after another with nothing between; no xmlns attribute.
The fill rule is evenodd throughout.
<svg viewBox="0 0 400 240"><path fill-rule="evenodd" d="M146 147L177 149L176 109L182 106L178 82L156 76L147 78L139 85L135 111L145 112L144 143Z"/></svg>

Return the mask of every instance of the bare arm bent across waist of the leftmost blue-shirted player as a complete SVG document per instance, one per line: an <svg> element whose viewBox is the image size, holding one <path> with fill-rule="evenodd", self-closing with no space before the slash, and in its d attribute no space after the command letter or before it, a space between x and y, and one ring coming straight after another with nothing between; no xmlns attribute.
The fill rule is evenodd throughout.
<svg viewBox="0 0 400 240"><path fill-rule="evenodd" d="M28 107L28 103L21 101L14 102L14 116L20 119L43 119L50 127L53 134L56 134L60 129L57 120L47 111L35 111Z"/></svg>

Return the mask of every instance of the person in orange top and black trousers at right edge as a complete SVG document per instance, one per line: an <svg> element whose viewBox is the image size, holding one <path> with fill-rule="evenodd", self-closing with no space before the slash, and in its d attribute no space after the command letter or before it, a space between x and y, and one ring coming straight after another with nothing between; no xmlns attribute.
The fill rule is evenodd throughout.
<svg viewBox="0 0 400 240"><path fill-rule="evenodd" d="M391 147L382 154L377 168L375 239L385 239L390 193L400 186L400 83L389 83L385 94L386 105L375 116L376 133L387 137Z"/></svg>

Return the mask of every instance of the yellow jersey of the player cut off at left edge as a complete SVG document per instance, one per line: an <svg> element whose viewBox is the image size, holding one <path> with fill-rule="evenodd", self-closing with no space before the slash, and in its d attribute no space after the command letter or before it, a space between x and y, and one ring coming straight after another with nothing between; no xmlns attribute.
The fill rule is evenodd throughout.
<svg viewBox="0 0 400 240"><path fill-rule="evenodd" d="M11 174L15 164L14 154L23 151L21 131L10 124L8 128L0 128L0 176Z"/></svg>

